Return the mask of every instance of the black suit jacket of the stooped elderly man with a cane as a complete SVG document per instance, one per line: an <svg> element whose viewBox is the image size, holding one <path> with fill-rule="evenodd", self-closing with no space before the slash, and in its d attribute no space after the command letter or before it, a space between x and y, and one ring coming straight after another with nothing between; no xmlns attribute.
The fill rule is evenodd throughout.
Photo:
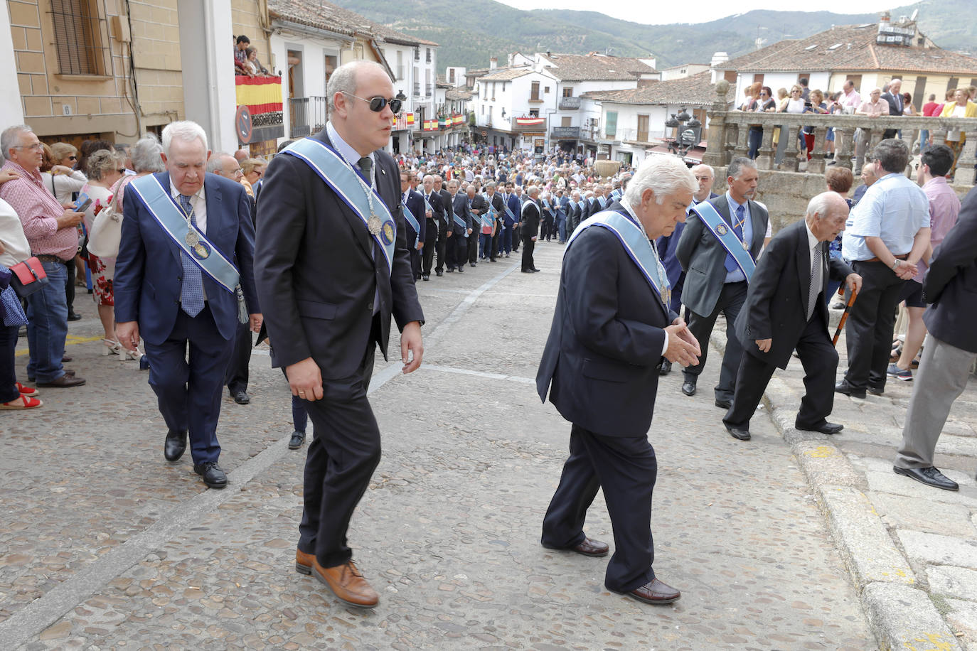
<svg viewBox="0 0 977 651"><path fill-rule="evenodd" d="M843 281L851 267L828 255L828 242L821 242L821 291L828 291L828 279ZM749 281L746 303L736 320L737 337L743 350L768 364L786 368L790 354L807 327L807 303L811 287L811 250L804 221L790 224L770 240L763 258ZM683 294L684 296L684 294ZM828 306L815 302L814 317L824 324L828 336ZM756 347L758 339L772 339L770 350Z"/></svg>

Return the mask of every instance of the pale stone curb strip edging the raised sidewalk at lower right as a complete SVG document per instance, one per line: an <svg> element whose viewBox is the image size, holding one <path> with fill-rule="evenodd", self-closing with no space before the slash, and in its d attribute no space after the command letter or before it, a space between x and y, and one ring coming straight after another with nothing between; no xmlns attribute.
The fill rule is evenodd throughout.
<svg viewBox="0 0 977 651"><path fill-rule="evenodd" d="M709 343L721 357L726 351L725 332L713 329ZM800 396L776 375L764 391L763 404L828 519L879 648L914 651L926 644L925 648L958 651L961 647L953 631L929 594L915 587L909 559L896 547L863 493L868 490L865 475L852 466L830 436L793 427Z"/></svg>

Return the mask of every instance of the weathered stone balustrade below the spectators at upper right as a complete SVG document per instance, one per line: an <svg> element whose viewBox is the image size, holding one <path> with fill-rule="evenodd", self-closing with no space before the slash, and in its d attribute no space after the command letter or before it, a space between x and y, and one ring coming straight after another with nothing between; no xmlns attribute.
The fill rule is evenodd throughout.
<svg viewBox="0 0 977 651"><path fill-rule="evenodd" d="M967 187L973 184L973 168L977 163L975 148L977 148L977 120L973 118L950 117L921 117L883 115L869 117L867 115L817 114L817 113L745 113L742 111L727 111L726 88L717 85L717 102L709 110L709 136L703 162L714 167L723 167L734 156L747 154L748 135L750 127L763 129L763 137L756 156L756 165L760 170L782 170L786 172L804 171L808 174L824 174L828 161L825 159L827 151L825 137L828 127L834 129L834 144L837 150L836 164L849 167L854 171L857 179L862 166L865 164L866 153L883 139L886 130L896 130L896 138L913 151L913 144L919 140L921 131L928 131L934 135L933 142L943 142L943 137L950 130L959 129L966 134L966 142L960 151L956 163L958 171L968 171L967 174L956 174L955 184ZM812 157L805 160L801 154L797 132L801 127L813 127L814 147ZM774 145L774 132L780 129L779 143ZM856 132L860 132L856 142ZM912 176L913 160L907 166L907 176Z"/></svg>

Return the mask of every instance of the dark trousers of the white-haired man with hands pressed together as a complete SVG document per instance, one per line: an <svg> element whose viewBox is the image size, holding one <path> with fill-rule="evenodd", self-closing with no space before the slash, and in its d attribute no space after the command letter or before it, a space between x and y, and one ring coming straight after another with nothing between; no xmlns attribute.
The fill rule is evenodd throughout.
<svg viewBox="0 0 977 651"><path fill-rule="evenodd" d="M587 509L603 489L615 542L604 585L618 592L644 586L655 578L651 523L657 476L658 460L647 436L606 436L574 425L570 458L543 518L543 546L581 543Z"/></svg>

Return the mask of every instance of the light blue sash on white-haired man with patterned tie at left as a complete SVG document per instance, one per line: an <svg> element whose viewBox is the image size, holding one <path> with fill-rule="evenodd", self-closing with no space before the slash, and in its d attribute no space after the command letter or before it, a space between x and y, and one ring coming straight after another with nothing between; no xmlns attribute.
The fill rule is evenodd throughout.
<svg viewBox="0 0 977 651"><path fill-rule="evenodd" d="M198 228L193 228L197 244L191 246L187 243L187 233L191 231L191 224L187 222L187 217L181 209L177 208L176 202L163 189L159 180L154 175L148 174L129 183L129 187L136 192L136 196L146 206L149 215L162 226L163 232L187 254L193 264L199 266L200 270L213 278L218 285L234 294L234 288L240 280L240 274L237 273L234 264L231 264Z"/></svg>

